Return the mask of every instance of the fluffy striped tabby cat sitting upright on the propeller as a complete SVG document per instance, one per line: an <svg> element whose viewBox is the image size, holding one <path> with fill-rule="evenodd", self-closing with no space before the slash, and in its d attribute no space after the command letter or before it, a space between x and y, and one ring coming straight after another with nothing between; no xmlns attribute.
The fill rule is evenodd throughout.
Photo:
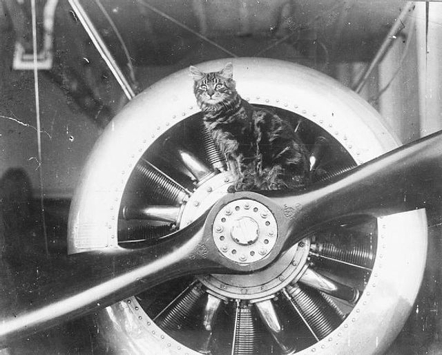
<svg viewBox="0 0 442 355"><path fill-rule="evenodd" d="M190 72L204 124L236 178L233 191L297 189L307 184L305 146L289 122L240 97L233 64L213 73L191 66Z"/></svg>

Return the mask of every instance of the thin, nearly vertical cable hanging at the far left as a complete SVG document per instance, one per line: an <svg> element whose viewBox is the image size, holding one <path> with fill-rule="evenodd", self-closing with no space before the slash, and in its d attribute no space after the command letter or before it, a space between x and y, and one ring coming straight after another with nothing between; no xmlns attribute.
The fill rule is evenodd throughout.
<svg viewBox="0 0 442 355"><path fill-rule="evenodd" d="M49 256L48 233L46 231L46 219L44 217L44 193L43 193L43 169L41 162L41 124L40 124L40 96L39 96L39 76L37 68L37 15L35 11L35 0L31 0L32 13L32 52L34 59L34 90L35 90L35 115L37 119L37 151L39 158L39 180L40 180L40 210L41 223L43 224L44 247L46 256Z"/></svg>

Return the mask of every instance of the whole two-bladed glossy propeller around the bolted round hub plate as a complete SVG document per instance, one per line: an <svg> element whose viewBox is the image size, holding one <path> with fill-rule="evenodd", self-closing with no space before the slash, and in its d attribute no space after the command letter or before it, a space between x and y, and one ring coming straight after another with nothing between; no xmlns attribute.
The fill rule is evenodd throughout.
<svg viewBox="0 0 442 355"><path fill-rule="evenodd" d="M442 132L402 146L339 177L296 193L232 193L158 244L29 260L22 269L0 260L0 343L111 305L160 282L207 273L262 269L312 229L349 215L387 215L439 204ZM266 191L268 193L269 191ZM240 264L224 258L212 225L228 202L251 198L273 213L278 241L271 253ZM341 288L342 289L342 288Z"/></svg>

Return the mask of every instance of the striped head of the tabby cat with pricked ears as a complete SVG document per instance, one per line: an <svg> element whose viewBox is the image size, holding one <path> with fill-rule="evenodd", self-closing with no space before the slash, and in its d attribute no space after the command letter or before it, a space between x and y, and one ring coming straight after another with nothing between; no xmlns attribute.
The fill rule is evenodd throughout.
<svg viewBox="0 0 442 355"><path fill-rule="evenodd" d="M236 89L231 63L226 64L219 72L203 73L195 66L191 66L190 71L195 81L193 92L200 107L229 102L235 97Z"/></svg>

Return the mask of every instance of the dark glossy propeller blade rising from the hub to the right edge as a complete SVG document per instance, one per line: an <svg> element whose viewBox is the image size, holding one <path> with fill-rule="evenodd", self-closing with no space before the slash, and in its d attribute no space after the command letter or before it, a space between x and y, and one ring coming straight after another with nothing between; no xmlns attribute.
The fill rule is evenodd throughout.
<svg viewBox="0 0 442 355"><path fill-rule="evenodd" d="M282 212L285 249L320 224L351 215L390 215L442 200L442 131L407 144L311 190L267 193Z"/></svg>

